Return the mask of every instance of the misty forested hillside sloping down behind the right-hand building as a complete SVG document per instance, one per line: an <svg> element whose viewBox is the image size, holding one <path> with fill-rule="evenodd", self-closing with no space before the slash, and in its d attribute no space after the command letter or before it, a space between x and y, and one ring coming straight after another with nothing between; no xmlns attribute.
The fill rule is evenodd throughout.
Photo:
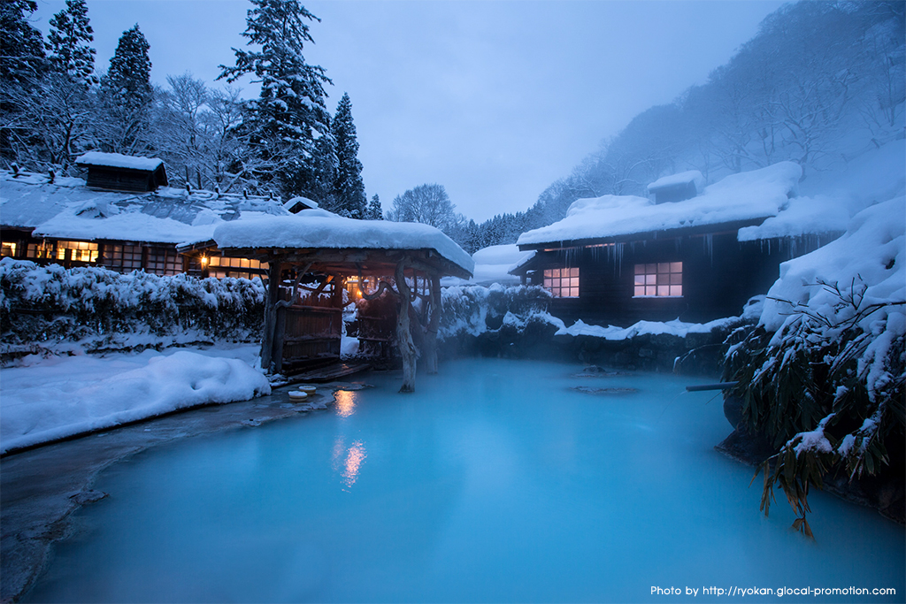
<svg viewBox="0 0 906 604"><path fill-rule="evenodd" d="M525 212L470 222L460 238L470 250L512 244L520 233L563 218L576 199L645 196L658 177L688 169L711 183L791 159L807 179L902 139L904 6L892 0L781 7L707 83L641 112Z"/></svg>

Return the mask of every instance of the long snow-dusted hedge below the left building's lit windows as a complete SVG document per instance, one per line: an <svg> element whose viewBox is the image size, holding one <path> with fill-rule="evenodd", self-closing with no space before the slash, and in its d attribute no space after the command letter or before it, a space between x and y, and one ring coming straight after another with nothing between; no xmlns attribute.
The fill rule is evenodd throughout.
<svg viewBox="0 0 906 604"><path fill-rule="evenodd" d="M121 274L4 258L2 351L35 345L53 349L67 342L103 350L186 340L255 340L264 299L260 280Z"/></svg>

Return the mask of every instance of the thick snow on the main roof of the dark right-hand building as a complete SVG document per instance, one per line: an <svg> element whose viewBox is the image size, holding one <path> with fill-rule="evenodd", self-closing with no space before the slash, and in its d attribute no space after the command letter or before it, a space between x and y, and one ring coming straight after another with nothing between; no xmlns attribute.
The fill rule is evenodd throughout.
<svg viewBox="0 0 906 604"><path fill-rule="evenodd" d="M552 244L584 239L630 238L631 235L757 222L777 216L788 204L802 168L790 161L734 174L706 187L699 197L655 205L635 196L579 199L566 217L553 225L528 231L519 245Z"/></svg>

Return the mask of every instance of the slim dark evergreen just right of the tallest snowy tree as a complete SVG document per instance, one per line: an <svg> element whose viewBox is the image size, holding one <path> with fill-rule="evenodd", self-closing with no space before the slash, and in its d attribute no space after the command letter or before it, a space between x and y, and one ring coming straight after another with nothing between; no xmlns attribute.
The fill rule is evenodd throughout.
<svg viewBox="0 0 906 604"><path fill-rule="evenodd" d="M355 138L352 102L348 93L343 93L337 105L332 130L337 157L336 175L333 178L337 213L351 218L364 218L368 198L365 197L365 185L361 182L361 161L357 157L359 141Z"/></svg>

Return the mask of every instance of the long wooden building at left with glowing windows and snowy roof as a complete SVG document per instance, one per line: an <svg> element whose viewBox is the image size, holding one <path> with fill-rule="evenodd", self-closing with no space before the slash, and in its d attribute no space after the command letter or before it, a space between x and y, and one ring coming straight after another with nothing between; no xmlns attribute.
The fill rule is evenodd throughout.
<svg viewBox="0 0 906 604"><path fill-rule="evenodd" d="M109 177L101 188L82 178L0 171L0 254L38 264L103 266L200 277L265 276L267 266L250 258L222 258L212 240L217 224L253 216L290 216L269 197L220 194L160 186L159 159L102 156ZM82 156L85 158L86 156ZM80 159L82 159L80 158ZM116 163L133 168L120 168ZM134 167L146 166L147 170ZM156 167L150 169L151 167ZM137 192L144 172L154 190Z"/></svg>

